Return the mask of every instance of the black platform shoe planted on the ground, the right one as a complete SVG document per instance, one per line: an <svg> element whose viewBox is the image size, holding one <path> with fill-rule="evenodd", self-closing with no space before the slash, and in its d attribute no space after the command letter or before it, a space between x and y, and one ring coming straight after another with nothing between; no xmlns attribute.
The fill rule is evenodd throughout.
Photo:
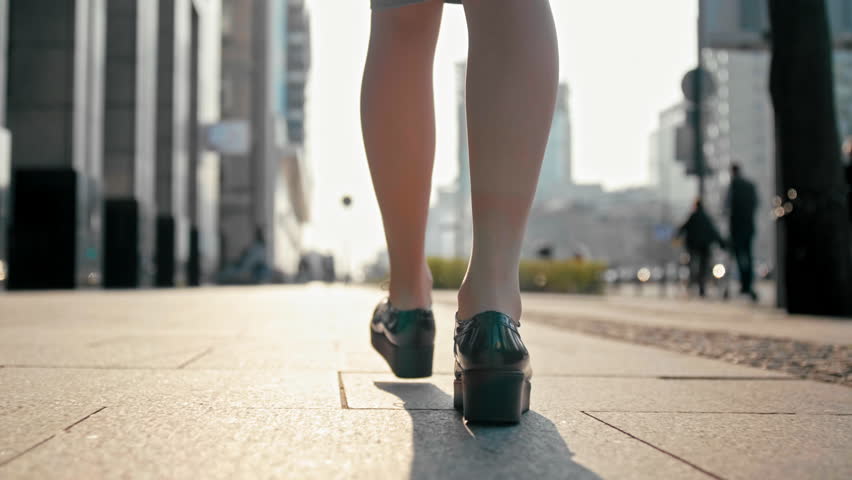
<svg viewBox="0 0 852 480"><path fill-rule="evenodd" d="M456 313L453 405L469 422L518 423L530 409L530 355L520 323L487 311L468 320Z"/></svg>

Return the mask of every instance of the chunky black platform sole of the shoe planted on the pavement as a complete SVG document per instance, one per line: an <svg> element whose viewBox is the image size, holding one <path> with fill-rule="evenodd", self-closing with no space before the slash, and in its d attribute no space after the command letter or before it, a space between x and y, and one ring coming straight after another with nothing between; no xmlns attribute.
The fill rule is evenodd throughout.
<svg viewBox="0 0 852 480"><path fill-rule="evenodd" d="M532 386L523 372L471 370L453 382L453 406L473 423L519 423Z"/></svg>

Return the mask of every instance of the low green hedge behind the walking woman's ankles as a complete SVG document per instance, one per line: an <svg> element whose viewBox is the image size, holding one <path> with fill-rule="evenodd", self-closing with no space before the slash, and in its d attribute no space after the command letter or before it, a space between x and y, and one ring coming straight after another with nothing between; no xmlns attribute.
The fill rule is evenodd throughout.
<svg viewBox="0 0 852 480"><path fill-rule="evenodd" d="M467 260L430 257L428 262L434 288L456 289L461 285ZM521 290L602 294L605 270L606 265L600 262L521 260Z"/></svg>

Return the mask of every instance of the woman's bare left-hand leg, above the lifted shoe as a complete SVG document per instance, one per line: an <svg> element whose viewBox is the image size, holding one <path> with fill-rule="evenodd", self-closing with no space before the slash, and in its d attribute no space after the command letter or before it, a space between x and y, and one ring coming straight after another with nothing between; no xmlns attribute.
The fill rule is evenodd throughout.
<svg viewBox="0 0 852 480"><path fill-rule="evenodd" d="M443 1L373 12L361 124L390 255L390 300L430 307L426 217L435 157L432 63Z"/></svg>

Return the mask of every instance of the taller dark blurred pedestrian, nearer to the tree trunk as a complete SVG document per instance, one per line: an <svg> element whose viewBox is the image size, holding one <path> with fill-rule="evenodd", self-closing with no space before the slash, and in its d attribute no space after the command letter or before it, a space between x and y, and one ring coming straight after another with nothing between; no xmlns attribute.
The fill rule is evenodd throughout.
<svg viewBox="0 0 852 480"><path fill-rule="evenodd" d="M754 213L757 210L757 188L742 175L740 166L731 166L731 186L728 190L726 210L730 219L731 252L740 274L740 293L755 302L754 291Z"/></svg>

